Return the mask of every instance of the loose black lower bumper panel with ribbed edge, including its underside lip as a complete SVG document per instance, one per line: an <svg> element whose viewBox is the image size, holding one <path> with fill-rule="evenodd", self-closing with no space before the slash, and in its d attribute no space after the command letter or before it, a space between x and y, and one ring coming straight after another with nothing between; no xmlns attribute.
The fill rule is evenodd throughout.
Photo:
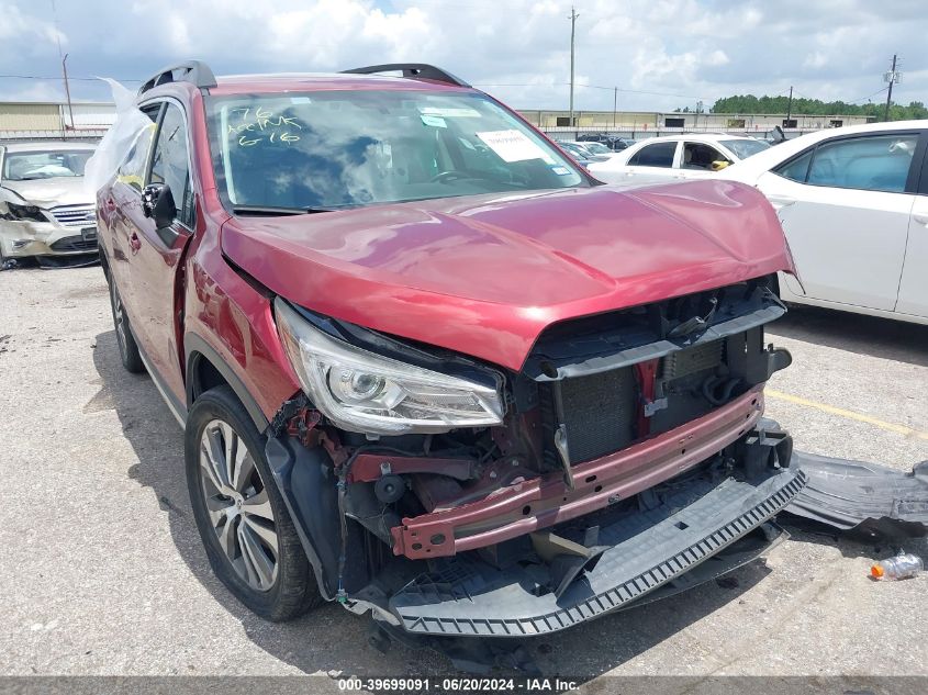
<svg viewBox="0 0 928 695"><path fill-rule="evenodd" d="M790 504L805 482L805 473L791 469L771 470L753 482L734 478L714 482L704 475L671 481L663 502L646 511L584 517L586 529L595 525L596 542L606 549L559 597L546 582L544 564L514 562L500 569L477 553L466 553L433 561L432 571L392 595L369 586L351 598L358 602L356 610L376 607L377 617L414 635L555 632L622 609L652 592L657 597L689 588L698 583L693 581L696 573L689 573L714 556L723 558L738 543L742 547L717 565L722 571L703 576L756 558L778 535L765 522ZM761 530L767 531L767 542L758 543ZM754 542L746 542L752 535Z"/></svg>

